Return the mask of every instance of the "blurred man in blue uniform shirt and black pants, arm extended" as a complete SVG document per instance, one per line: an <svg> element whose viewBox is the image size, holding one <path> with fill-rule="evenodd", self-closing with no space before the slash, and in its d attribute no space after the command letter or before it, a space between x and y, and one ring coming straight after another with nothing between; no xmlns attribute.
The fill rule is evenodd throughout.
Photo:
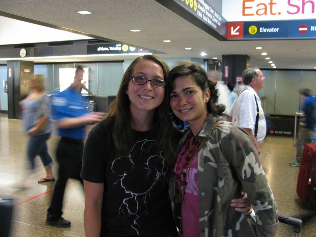
<svg viewBox="0 0 316 237"><path fill-rule="evenodd" d="M64 91L52 96L52 115L58 126L61 139L56 150L59 163L58 179L54 187L52 202L47 210L46 223L56 227L69 227L71 222L62 217L64 191L69 178L80 178L82 168L83 139L86 136L85 125L97 123L103 113L86 113L79 88L82 88L84 70L78 67L74 82ZM80 89L81 91L81 89Z"/></svg>

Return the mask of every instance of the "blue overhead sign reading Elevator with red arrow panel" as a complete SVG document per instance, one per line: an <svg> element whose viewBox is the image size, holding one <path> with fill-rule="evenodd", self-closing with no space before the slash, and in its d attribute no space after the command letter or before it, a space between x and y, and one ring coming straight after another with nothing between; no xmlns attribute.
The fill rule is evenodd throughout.
<svg viewBox="0 0 316 237"><path fill-rule="evenodd" d="M316 19L229 22L228 39L316 39ZM237 26L239 28L237 29ZM239 30L243 28L243 33ZM237 34L238 33L238 34Z"/></svg>

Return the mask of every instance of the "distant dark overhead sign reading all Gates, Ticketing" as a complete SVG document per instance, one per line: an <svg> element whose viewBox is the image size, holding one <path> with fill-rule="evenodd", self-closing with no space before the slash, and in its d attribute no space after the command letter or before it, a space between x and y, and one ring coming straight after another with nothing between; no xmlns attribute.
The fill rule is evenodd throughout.
<svg viewBox="0 0 316 237"><path fill-rule="evenodd" d="M148 53L148 50L138 49L125 44L96 44L87 45L87 54L119 54L119 53Z"/></svg>

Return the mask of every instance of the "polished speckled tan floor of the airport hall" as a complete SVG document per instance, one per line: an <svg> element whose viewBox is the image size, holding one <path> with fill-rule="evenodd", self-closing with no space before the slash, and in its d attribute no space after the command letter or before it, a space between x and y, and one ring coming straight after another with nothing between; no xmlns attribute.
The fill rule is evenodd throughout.
<svg viewBox="0 0 316 237"><path fill-rule="evenodd" d="M52 135L48 141L49 153L54 161L58 139ZM26 142L27 137L20 130L20 120L8 119L6 114L0 114L0 196L15 197L16 205L10 236L84 236L84 193L78 181L69 180L65 192L63 217L71 221L69 228L57 228L45 223L54 182L37 183L37 180L45 175L39 158L36 158L37 171L27 177L29 188L19 190L9 187L26 177ZM299 168L289 166L289 162L294 161L295 157L293 139L267 137L262 153L263 161L269 169L266 175L276 198L279 213L303 220L302 237L316 237L316 210L308 210L296 196ZM53 172L57 176L57 165L53 167ZM290 226L280 224L276 236L295 236L293 230Z"/></svg>

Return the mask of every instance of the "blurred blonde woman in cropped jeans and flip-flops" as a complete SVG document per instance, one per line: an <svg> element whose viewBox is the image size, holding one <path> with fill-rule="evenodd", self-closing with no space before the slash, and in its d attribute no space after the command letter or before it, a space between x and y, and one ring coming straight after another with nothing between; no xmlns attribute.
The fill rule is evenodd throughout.
<svg viewBox="0 0 316 237"><path fill-rule="evenodd" d="M19 102L22 119L22 129L29 136L27 142L27 158L30 162L30 172L34 172L36 155L40 156L46 175L39 179L39 183L55 181L52 171L54 162L47 152L46 141L51 135L51 123L48 117L48 100L45 94L45 78L41 74L34 74L29 80L29 94ZM26 177L13 187L26 187Z"/></svg>

